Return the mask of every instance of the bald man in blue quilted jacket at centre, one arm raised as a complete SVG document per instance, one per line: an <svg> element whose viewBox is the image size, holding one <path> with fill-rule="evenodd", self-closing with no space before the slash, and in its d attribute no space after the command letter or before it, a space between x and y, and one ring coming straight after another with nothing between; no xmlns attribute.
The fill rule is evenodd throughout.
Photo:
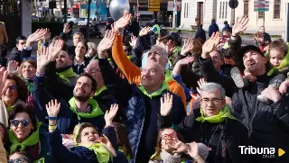
<svg viewBox="0 0 289 163"><path fill-rule="evenodd" d="M110 42L115 39L113 35L113 32L109 32L108 38L110 39L108 40ZM152 55L160 56L156 55L157 52L159 51L152 51ZM135 156L132 162L148 162L150 156L154 154L156 144L157 113L160 112L160 100L164 95L173 96L172 111L169 117L172 118L172 123L178 124L186 115L182 98L169 91L163 65L148 61L140 70L139 86L135 86L135 84L129 85L117 76L105 56L105 53L98 53L100 72L107 88L116 91L115 98L117 102L122 103L120 105L123 107L123 123L126 125L128 139Z"/></svg>

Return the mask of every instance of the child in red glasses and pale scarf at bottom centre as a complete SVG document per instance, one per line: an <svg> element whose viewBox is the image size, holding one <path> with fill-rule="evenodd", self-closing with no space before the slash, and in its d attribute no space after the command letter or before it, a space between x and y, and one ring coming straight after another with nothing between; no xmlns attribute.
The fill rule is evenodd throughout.
<svg viewBox="0 0 289 163"><path fill-rule="evenodd" d="M183 146L190 146L188 155L177 152ZM209 149L202 143L192 142L185 144L182 135L172 128L163 128L159 131L155 153L149 163L205 163ZM190 157L191 156L191 157ZM193 158L191 160L191 158Z"/></svg>

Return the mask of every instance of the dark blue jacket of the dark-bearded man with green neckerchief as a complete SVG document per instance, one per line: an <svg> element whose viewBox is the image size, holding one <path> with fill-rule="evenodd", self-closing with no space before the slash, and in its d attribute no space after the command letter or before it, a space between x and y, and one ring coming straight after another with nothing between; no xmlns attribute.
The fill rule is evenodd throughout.
<svg viewBox="0 0 289 163"><path fill-rule="evenodd" d="M35 107L37 116L42 117L42 119L47 116L45 104L55 99L55 97L46 90L43 83L44 77L34 77L33 99L37 104ZM104 114L94 118L81 117L79 121L77 114L70 110L70 104L68 104L68 102L63 98L59 99L59 102L61 102L61 111L57 116L57 126L61 134L70 134L79 122L90 122L95 127L98 127L98 130L102 130L104 127Z"/></svg>

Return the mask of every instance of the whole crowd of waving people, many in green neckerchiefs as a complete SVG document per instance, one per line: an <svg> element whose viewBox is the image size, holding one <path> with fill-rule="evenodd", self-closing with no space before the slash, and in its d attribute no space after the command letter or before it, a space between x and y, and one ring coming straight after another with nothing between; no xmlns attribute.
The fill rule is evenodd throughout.
<svg viewBox="0 0 289 163"><path fill-rule="evenodd" d="M131 20L98 45L66 43L69 24L16 39L0 68L0 162L289 162L285 41L261 29L242 47L246 16L183 43L158 27L128 37Z"/></svg>

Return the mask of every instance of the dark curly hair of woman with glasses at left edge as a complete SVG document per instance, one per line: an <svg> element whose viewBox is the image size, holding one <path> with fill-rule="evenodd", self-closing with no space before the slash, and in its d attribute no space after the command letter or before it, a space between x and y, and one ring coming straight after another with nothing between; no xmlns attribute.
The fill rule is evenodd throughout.
<svg viewBox="0 0 289 163"><path fill-rule="evenodd" d="M23 79L14 74L8 74L7 80L14 80L17 86L18 99L22 100L23 102L26 101L28 90Z"/></svg>

